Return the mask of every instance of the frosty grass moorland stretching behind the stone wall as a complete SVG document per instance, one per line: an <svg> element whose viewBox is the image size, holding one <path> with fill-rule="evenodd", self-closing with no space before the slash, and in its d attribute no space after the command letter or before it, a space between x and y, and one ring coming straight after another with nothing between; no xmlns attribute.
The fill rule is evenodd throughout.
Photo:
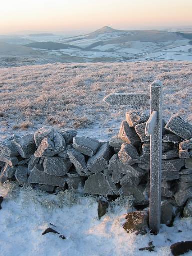
<svg viewBox="0 0 192 256"><path fill-rule="evenodd" d="M102 102L104 96L149 93L149 84L155 79L163 81L165 119L179 113L191 122L191 70L192 63L167 61L2 68L0 136L42 125L82 128L96 124L112 135L127 108L108 106Z"/></svg>

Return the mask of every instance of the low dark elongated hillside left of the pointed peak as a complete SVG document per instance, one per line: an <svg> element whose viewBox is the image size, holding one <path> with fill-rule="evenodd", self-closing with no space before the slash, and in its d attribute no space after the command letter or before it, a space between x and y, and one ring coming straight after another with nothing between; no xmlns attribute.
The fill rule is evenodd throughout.
<svg viewBox="0 0 192 256"><path fill-rule="evenodd" d="M46 50L62 50L62 49L69 49L69 48L80 49L80 47L78 46L64 44L64 43L57 43L57 42L32 42L32 43L26 44L25 46L30 48L46 49Z"/></svg>

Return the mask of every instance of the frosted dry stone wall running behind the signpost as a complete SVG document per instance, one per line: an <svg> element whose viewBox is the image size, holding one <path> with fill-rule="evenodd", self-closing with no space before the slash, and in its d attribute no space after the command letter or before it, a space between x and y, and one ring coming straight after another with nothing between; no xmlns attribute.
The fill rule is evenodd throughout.
<svg viewBox="0 0 192 256"><path fill-rule="evenodd" d="M149 203L149 115L126 113L118 135L108 142L80 137L76 130L42 127L0 143L0 181L17 180L43 191L80 189L94 195L133 195ZM163 121L162 200L190 208L192 198L192 125L179 115ZM167 207L165 207L167 208ZM190 209L185 209L190 215Z"/></svg>

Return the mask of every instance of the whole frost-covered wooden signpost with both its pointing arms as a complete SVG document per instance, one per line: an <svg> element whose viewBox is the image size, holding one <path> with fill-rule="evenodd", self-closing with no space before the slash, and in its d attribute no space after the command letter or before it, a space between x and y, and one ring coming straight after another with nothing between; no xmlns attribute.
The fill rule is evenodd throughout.
<svg viewBox="0 0 192 256"><path fill-rule="evenodd" d="M145 134L150 136L150 229L160 229L161 204L161 159L162 159L162 82L154 81L148 94L114 93L104 98L110 105L148 106L150 118L146 122Z"/></svg>

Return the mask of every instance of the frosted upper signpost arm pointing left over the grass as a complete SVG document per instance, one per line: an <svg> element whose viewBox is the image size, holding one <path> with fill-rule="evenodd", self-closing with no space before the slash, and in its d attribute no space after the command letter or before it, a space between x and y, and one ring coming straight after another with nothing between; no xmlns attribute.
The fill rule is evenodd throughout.
<svg viewBox="0 0 192 256"><path fill-rule="evenodd" d="M109 105L148 106L150 105L150 95L113 93L106 96L104 101Z"/></svg>

